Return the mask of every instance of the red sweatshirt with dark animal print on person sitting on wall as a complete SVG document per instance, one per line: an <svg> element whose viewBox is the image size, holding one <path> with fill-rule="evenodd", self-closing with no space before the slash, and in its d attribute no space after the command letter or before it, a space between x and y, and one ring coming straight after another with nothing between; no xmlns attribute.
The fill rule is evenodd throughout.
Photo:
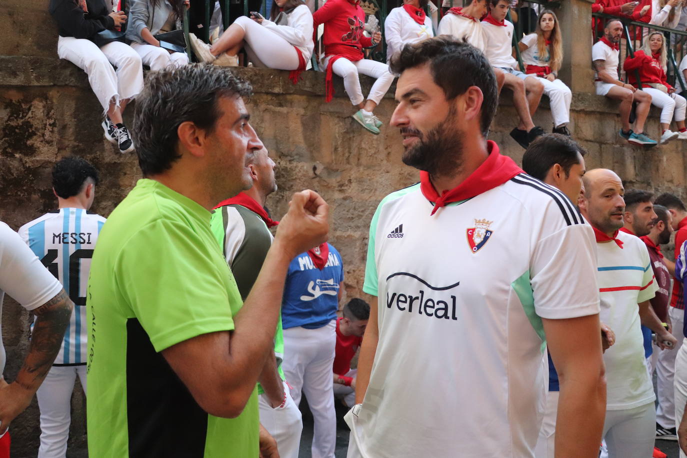
<svg viewBox="0 0 687 458"><path fill-rule="evenodd" d="M328 0L313 14L313 26L324 24L324 54L341 54L341 45L357 48L363 54L363 47L372 46L372 38L363 35L365 12L360 2ZM339 49L337 49L339 48ZM362 58L362 56L361 56Z"/></svg>

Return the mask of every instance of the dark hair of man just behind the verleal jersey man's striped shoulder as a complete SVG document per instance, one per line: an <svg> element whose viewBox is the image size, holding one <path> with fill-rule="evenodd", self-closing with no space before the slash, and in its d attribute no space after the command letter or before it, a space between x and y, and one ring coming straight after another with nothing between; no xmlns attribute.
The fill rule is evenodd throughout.
<svg viewBox="0 0 687 458"><path fill-rule="evenodd" d="M559 164L567 178L570 168L580 163L578 154L584 157L587 150L567 135L545 134L537 137L527 148L522 157L522 168L527 174L543 181L549 170Z"/></svg>

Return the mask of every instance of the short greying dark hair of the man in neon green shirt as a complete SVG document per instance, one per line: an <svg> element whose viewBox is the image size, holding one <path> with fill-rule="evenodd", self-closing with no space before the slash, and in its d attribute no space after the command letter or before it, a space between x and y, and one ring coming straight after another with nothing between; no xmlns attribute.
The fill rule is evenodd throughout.
<svg viewBox="0 0 687 458"><path fill-rule="evenodd" d="M190 64L174 69L150 71L142 93L136 98L133 138L144 176L172 167L177 152L177 129L190 121L212 130L222 116L222 97L251 95L251 85L226 67Z"/></svg>

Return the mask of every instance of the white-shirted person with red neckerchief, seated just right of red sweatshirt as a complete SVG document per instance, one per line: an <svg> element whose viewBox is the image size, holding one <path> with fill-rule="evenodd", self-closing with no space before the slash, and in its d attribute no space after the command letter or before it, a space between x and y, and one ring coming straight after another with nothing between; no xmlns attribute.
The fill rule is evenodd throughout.
<svg viewBox="0 0 687 458"><path fill-rule="evenodd" d="M406 43L418 43L434 36L431 18L425 14L429 0L403 0L384 21L387 42L387 62L400 52Z"/></svg>

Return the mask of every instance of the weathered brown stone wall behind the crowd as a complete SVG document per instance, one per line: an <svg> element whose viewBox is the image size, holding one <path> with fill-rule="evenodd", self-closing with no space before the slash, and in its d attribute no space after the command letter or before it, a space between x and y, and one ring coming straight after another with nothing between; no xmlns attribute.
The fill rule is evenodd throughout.
<svg viewBox="0 0 687 458"><path fill-rule="evenodd" d="M588 23L589 1L567 0L560 14L561 23L570 27L561 75L576 91L570 128L590 153L587 168L612 168L626 187L684 196L684 146L675 141L649 150L628 146L617 135L616 104L585 92L591 90L591 34L587 43L574 37L574 27L579 34L579 24ZM1 29L12 30L0 41L0 220L13 229L54 208L50 170L60 157L78 154L100 169L102 182L93 210L104 216L140 177L135 156L118 154L103 139L101 108L85 74L56 58L56 30L46 8L45 0L6 0L0 5ZM29 27L21 21L25 17L35 18L45 27ZM583 30L586 33L587 27ZM416 171L401 163L398 130L385 125L379 136L363 130L350 118L354 108L340 80L336 81L335 99L324 103L322 73L306 72L304 80L293 86L286 72L237 71L254 85L255 95L249 101L251 124L277 163L280 190L268 200L273 215L284 213L294 191L309 187L320 192L332 209L330 240L343 257L346 297L361 295L368 224L374 208L385 194L418 180ZM363 78L363 90L369 87L370 81ZM394 110L393 92L392 87L376 111L385 123ZM550 130L547 103L543 100L534 121ZM129 124L132 111L125 115ZM491 139L519 162L523 150L508 136L515 119L509 95L504 94ZM657 111L647 125L656 138ZM5 299L2 330L8 380L14 380L27 350L29 323L29 315L12 299ZM70 456L85 456L83 396L74 396L73 411ZM34 457L38 435L34 401L12 425L12 456Z"/></svg>

